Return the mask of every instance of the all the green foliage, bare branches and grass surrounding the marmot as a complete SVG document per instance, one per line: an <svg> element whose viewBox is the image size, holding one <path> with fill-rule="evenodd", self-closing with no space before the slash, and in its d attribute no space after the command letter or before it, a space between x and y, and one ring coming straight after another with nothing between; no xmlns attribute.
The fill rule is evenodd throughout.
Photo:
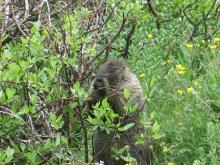
<svg viewBox="0 0 220 165"><path fill-rule="evenodd" d="M121 56L147 97L152 164L220 164L219 1L8 2L0 164L92 162L87 88L105 59Z"/></svg>

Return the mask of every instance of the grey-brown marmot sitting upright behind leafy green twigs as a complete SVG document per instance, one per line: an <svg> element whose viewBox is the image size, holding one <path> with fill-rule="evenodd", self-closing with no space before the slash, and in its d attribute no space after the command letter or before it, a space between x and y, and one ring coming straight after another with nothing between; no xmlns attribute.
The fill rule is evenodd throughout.
<svg viewBox="0 0 220 165"><path fill-rule="evenodd" d="M129 99L137 109L129 115L125 113L124 109L127 102L123 94L125 88L130 91ZM95 161L104 161L105 165L125 165L126 162L123 159L115 160L112 157L112 147L120 149L128 145L130 146L129 154L137 160L138 165L150 164L148 140L144 144L136 144L135 139L137 134L144 133L144 128L140 124L140 115L146 111L143 89L138 78L129 70L123 59L108 60L98 69L90 87L87 100L88 109L92 111L92 105L104 98L108 99L114 113L122 117L120 123L123 125L134 123L135 125L129 130L121 132L120 138L98 128L93 136Z"/></svg>

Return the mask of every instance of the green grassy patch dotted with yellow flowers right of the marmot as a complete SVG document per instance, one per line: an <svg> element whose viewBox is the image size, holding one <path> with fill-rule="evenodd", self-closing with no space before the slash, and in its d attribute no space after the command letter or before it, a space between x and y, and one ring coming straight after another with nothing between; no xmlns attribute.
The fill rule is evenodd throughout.
<svg viewBox="0 0 220 165"><path fill-rule="evenodd" d="M144 50L129 59L143 84L149 119L159 125L154 163L217 165L220 42L188 43L164 32L146 35Z"/></svg>

